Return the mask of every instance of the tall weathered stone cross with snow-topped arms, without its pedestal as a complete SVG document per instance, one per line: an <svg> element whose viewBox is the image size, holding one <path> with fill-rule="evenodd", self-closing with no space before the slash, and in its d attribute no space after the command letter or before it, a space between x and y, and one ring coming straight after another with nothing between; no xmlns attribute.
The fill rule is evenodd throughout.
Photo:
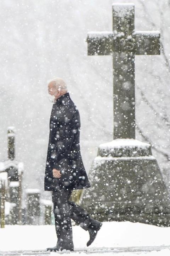
<svg viewBox="0 0 170 256"><path fill-rule="evenodd" d="M113 31L90 32L88 55L113 56L113 139L135 139L135 55L160 54L159 31L136 31L135 5L112 5Z"/></svg>

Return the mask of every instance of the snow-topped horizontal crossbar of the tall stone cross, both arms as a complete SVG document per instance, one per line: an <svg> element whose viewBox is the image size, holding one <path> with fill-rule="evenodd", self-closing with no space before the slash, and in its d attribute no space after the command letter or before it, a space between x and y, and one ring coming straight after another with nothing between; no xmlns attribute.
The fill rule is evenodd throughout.
<svg viewBox="0 0 170 256"><path fill-rule="evenodd" d="M132 41L128 45L129 37ZM136 31L127 38L123 32L89 32L86 39L88 55L112 55L117 51L132 51L137 55L160 54L159 31Z"/></svg>

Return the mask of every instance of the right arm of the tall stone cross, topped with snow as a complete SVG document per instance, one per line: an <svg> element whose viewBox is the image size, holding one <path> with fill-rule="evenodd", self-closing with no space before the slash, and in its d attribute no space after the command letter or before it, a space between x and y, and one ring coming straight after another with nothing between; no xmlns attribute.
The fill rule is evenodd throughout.
<svg viewBox="0 0 170 256"><path fill-rule="evenodd" d="M135 39L135 54L160 54L159 31L136 31L132 36Z"/></svg>

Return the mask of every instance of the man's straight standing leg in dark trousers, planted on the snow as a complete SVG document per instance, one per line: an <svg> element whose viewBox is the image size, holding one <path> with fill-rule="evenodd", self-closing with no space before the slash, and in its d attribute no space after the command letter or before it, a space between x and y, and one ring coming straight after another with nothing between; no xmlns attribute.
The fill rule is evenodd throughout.
<svg viewBox="0 0 170 256"><path fill-rule="evenodd" d="M53 212L57 234L57 246L60 249L73 249L72 224L70 220L70 208L68 204L66 188L60 188L52 192Z"/></svg>

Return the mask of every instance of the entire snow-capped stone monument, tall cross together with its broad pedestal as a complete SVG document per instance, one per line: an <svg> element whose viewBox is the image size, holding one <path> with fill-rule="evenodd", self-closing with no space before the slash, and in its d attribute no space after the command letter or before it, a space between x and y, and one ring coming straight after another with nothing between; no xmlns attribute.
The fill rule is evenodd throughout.
<svg viewBox="0 0 170 256"><path fill-rule="evenodd" d="M101 144L80 204L100 221L169 226L170 197L151 145L135 139L135 55L160 54L159 31L134 30L134 4L113 4L113 31L88 33L88 55L113 56L113 141Z"/></svg>

